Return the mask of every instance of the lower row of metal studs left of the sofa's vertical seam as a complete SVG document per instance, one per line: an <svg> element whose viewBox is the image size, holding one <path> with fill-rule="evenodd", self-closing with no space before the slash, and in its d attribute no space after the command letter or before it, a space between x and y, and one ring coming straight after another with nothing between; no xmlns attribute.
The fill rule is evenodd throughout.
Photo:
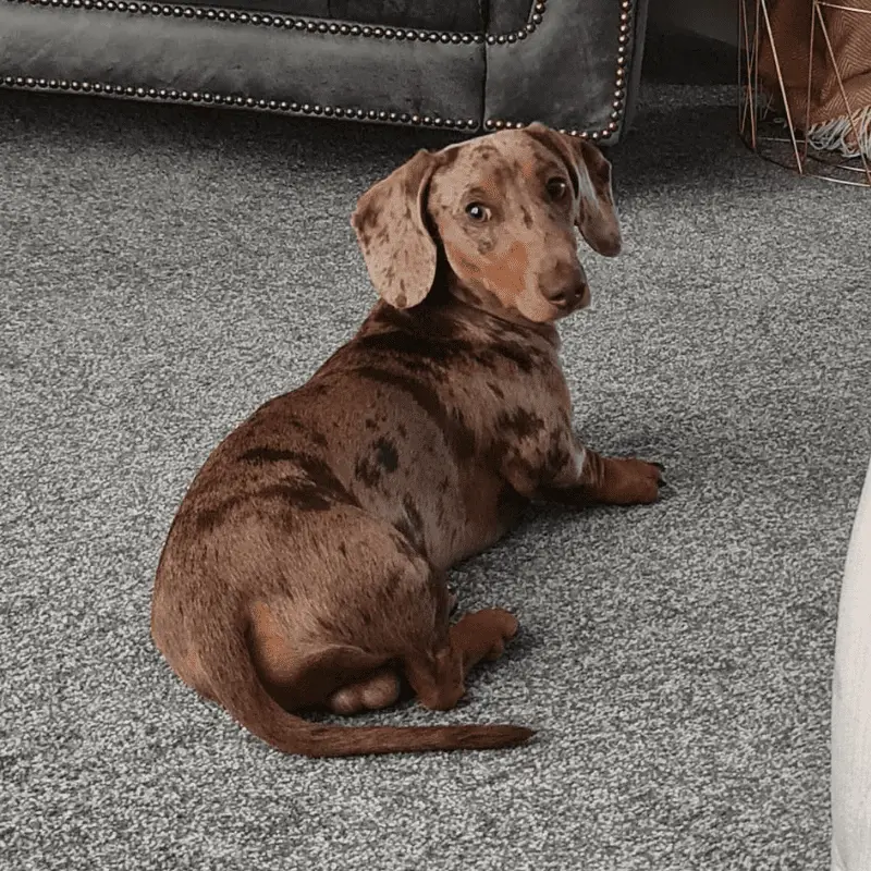
<svg viewBox="0 0 871 871"><path fill-rule="evenodd" d="M442 127L449 130L474 131L478 122L474 119L442 118L439 114L413 114L388 109L358 109L344 106L322 106L321 103L298 103L289 100L267 100L243 97L233 94L212 91L188 91L168 88L146 88L133 85L108 85L101 82L77 82L66 78L33 78L30 76L0 76L0 85L8 88L29 90L62 90L83 94L99 94L107 97L126 97L161 102L194 102L212 106L229 106L238 109L258 109L294 115L324 115L345 118L352 121L383 121L393 124L409 124L420 127Z"/></svg>

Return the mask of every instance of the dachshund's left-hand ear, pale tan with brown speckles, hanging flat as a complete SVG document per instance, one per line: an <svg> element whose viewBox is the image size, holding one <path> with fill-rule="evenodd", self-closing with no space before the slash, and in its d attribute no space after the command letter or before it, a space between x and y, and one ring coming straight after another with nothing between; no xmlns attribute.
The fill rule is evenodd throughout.
<svg viewBox="0 0 871 871"><path fill-rule="evenodd" d="M396 308L422 302L436 279L436 242L426 216L436 163L436 156L421 149L372 185L351 218L372 284Z"/></svg>

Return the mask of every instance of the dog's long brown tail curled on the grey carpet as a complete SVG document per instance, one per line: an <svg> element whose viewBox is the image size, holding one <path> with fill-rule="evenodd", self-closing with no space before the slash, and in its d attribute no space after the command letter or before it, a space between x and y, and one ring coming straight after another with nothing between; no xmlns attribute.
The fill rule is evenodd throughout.
<svg viewBox="0 0 871 871"><path fill-rule="evenodd" d="M512 725L343 726L310 723L285 711L267 692L242 627L212 627L200 661L212 695L241 725L285 753L366 756L431 750L516 747L535 732ZM205 654L205 655L203 655Z"/></svg>

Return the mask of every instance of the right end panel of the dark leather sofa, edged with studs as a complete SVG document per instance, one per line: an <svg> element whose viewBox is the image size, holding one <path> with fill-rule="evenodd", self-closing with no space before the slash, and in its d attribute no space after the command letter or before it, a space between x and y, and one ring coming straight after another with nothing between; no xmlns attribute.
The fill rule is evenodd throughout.
<svg viewBox="0 0 871 871"><path fill-rule="evenodd" d="M491 0L491 17L500 3L516 0ZM616 143L633 120L646 26L647 0L539 0L523 29L487 36L484 126L541 121Z"/></svg>

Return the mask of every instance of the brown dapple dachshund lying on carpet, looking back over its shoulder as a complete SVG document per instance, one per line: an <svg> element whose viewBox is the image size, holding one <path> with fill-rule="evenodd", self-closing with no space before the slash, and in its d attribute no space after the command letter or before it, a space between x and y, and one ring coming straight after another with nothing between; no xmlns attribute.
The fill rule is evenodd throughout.
<svg viewBox="0 0 871 871"><path fill-rule="evenodd" d="M531 499L652 502L660 467L579 444L554 321L589 303L575 226L619 252L611 164L541 124L421 150L352 224L381 299L298 390L206 462L169 531L151 631L179 676L310 757L496 748L512 725L309 722L384 708L405 678L446 710L517 631L450 623L447 568Z"/></svg>

